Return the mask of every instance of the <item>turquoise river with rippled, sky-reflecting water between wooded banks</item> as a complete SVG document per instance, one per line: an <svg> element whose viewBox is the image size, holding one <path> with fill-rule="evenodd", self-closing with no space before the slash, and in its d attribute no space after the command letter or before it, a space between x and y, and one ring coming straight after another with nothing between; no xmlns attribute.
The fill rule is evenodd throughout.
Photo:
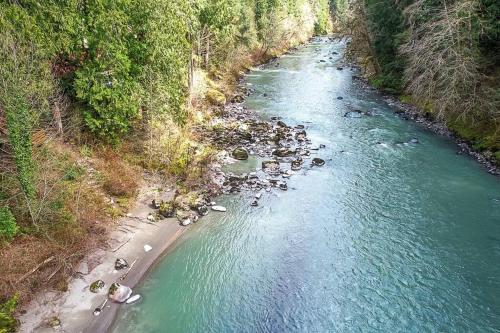
<svg viewBox="0 0 500 333"><path fill-rule="evenodd" d="M113 332L500 332L500 180L338 70L344 47L315 39L245 78L246 106L306 125L326 165L259 207L218 198L227 213L191 227Z"/></svg>

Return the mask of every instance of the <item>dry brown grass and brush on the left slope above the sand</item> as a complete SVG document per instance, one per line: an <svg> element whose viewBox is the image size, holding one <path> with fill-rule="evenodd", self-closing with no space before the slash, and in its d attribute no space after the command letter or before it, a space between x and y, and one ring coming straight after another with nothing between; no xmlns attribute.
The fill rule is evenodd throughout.
<svg viewBox="0 0 500 333"><path fill-rule="evenodd" d="M22 304L37 291L64 290L75 265L106 246L112 220L107 196L133 196L139 173L118 153L95 155L82 157L58 141L46 143L35 154L38 195L31 203L16 192L15 178L2 175L8 198L0 203L15 207L21 233L0 244L0 301L19 293Z"/></svg>

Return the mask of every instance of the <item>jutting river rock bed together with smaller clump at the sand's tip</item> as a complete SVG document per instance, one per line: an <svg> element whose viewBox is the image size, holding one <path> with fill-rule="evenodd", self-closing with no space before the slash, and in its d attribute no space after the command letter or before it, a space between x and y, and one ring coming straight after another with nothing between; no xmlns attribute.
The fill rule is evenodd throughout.
<svg viewBox="0 0 500 333"><path fill-rule="evenodd" d="M240 88L244 89L244 88ZM211 165L211 189L176 193L169 200L157 198L152 205L157 211L149 220L176 217L180 224L195 223L210 210L224 212L212 198L217 194L251 193L249 204L258 206L264 192L287 191L287 180L304 168L321 167L318 157L324 145L314 145L307 137L306 126L289 126L279 117L262 120L242 104L249 91L241 90L218 117L200 132L200 140L218 151L217 162ZM260 168L247 173L224 172L222 166L255 158Z"/></svg>

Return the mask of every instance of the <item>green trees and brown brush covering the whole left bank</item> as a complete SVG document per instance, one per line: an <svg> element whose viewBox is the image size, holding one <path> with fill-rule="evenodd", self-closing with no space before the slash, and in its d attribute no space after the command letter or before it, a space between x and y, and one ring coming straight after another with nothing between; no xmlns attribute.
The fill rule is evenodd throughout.
<svg viewBox="0 0 500 333"><path fill-rule="evenodd" d="M64 290L144 172L198 181L196 123L329 18L327 0L1 2L0 301Z"/></svg>

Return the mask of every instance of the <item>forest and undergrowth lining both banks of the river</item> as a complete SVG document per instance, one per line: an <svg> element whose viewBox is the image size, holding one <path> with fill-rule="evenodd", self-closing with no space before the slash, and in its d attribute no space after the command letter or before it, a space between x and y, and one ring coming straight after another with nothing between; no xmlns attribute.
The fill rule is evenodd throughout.
<svg viewBox="0 0 500 333"><path fill-rule="evenodd" d="M196 124L314 34L500 161L499 17L494 0L1 1L0 332L18 298L65 289L144 171L199 179Z"/></svg>

